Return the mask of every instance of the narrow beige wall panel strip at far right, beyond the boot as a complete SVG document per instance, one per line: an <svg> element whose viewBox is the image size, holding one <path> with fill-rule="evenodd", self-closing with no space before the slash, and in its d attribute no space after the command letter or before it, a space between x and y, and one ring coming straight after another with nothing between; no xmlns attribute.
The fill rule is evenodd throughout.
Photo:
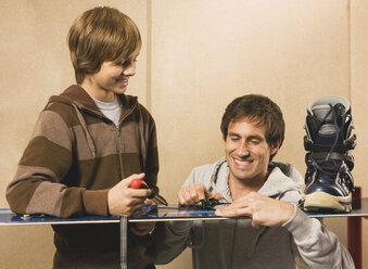
<svg viewBox="0 0 368 269"><path fill-rule="evenodd" d="M357 146L353 152L353 170L356 185L363 189L363 196L368 196L368 2L351 1L352 29L352 110L357 134ZM363 220L363 268L368 268L368 220Z"/></svg>

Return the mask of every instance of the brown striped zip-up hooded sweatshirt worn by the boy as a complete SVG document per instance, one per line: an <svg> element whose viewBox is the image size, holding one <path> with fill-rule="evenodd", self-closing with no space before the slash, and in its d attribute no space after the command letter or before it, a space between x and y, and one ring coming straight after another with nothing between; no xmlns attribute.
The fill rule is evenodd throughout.
<svg viewBox="0 0 368 269"><path fill-rule="evenodd" d="M154 120L137 98L117 97L123 104L118 126L79 86L50 98L7 189L13 212L62 218L107 216L109 190L140 172L158 191ZM60 225L53 230L54 268L118 268L118 223ZM128 236L129 268L152 264L149 235Z"/></svg>

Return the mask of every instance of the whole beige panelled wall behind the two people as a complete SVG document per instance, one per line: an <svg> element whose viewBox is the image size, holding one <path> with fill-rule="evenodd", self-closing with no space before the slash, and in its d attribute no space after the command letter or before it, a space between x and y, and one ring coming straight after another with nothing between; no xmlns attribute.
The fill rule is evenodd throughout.
<svg viewBox="0 0 368 269"><path fill-rule="evenodd" d="M97 4L118 8L141 29L144 46L129 93L139 95L156 120L160 185L169 202L176 202L192 167L224 154L220 116L233 98L251 92L269 95L283 110L287 136L277 159L293 163L302 172L308 101L328 94L351 100L358 136L353 175L368 196L364 180L368 4L364 0L0 0L3 193L39 111L51 94L74 81L67 29L78 14ZM8 207L4 195L0 207ZM346 243L346 220L326 222ZM1 227L0 236L0 253L7 257L0 268L50 268L50 228ZM365 240L367 249L367 232ZM189 268L190 262L187 252L161 268ZM367 251L364 262L368 267Z"/></svg>

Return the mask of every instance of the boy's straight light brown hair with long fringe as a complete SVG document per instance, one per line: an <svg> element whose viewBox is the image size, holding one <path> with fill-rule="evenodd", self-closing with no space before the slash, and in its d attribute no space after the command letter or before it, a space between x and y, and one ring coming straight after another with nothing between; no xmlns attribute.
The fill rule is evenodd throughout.
<svg viewBox="0 0 368 269"><path fill-rule="evenodd" d="M67 43L77 84L100 71L104 61L124 62L141 47L141 36L130 17L116 9L98 7L73 23Z"/></svg>

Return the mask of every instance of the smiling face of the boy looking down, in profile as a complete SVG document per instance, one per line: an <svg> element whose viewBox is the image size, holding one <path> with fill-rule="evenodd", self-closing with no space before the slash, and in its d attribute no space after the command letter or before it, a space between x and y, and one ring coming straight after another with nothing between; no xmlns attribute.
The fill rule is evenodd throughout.
<svg viewBox="0 0 368 269"><path fill-rule="evenodd" d="M123 63L103 62L98 73L87 75L81 87L94 99L113 102L114 93L124 93L129 78L136 75L136 62L140 48L131 53Z"/></svg>

